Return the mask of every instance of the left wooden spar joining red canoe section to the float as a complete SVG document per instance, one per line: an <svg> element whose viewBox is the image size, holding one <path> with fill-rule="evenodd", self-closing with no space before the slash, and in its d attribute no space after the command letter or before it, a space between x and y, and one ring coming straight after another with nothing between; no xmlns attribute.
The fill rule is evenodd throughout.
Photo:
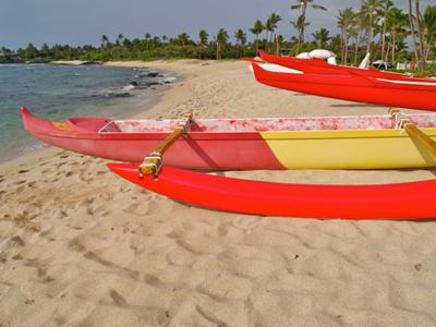
<svg viewBox="0 0 436 327"><path fill-rule="evenodd" d="M170 146L178 141L189 130L192 121L192 112L185 113L184 121L181 121L175 130L168 135L154 152L144 158L140 165L140 175L144 174L158 174L162 167L162 156L170 148Z"/></svg>

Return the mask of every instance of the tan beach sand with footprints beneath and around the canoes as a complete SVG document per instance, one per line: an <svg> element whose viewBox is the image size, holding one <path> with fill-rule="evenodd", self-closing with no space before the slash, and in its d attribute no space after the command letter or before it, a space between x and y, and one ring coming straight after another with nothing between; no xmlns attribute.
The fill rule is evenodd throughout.
<svg viewBox="0 0 436 327"><path fill-rule="evenodd" d="M111 64L184 76L144 118L386 112L261 85L244 62ZM217 213L142 190L106 162L47 148L0 166L0 326L436 324L436 221ZM352 184L434 178L431 170L223 174Z"/></svg>

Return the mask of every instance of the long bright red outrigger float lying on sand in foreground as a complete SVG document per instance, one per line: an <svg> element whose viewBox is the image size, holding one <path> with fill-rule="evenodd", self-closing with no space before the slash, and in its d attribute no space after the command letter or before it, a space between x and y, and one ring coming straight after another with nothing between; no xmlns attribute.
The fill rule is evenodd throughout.
<svg viewBox="0 0 436 327"><path fill-rule="evenodd" d="M280 217L340 219L432 219L436 181L385 185L281 184L222 178L164 167L141 178L137 166L109 164L142 187L201 207Z"/></svg>

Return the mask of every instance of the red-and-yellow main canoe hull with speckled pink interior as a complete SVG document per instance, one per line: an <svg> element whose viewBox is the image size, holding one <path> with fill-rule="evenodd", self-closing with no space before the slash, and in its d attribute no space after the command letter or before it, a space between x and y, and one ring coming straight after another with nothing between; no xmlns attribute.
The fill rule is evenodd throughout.
<svg viewBox="0 0 436 327"><path fill-rule="evenodd" d="M436 113L408 116L436 137ZM181 120L38 119L22 108L36 138L117 161L141 162ZM397 169L434 167L436 160L390 114L195 119L166 154L167 166L207 170Z"/></svg>

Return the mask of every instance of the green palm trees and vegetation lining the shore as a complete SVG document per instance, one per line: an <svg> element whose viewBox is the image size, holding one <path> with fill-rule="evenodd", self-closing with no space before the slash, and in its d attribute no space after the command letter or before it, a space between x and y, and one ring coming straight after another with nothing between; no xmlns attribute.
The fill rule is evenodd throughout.
<svg viewBox="0 0 436 327"><path fill-rule="evenodd" d="M436 53L436 5L420 8L420 1L409 0L408 11L395 7L391 0L362 0L360 10L344 8L337 13L340 34L331 35L325 27L313 32L313 40L305 39L311 25L310 9L328 11L314 0L294 0L291 13L298 12L290 22L290 39L277 33L282 17L271 13L265 22L256 20L245 33L242 28L229 33L219 28L215 33L201 29L197 40L186 33L175 37L152 36L129 39L122 34L114 40L104 35L99 46L71 47L43 45L39 49L29 44L16 51L1 48L0 63L48 62L53 60L154 60L174 58L238 59L254 57L259 48L271 53L294 56L302 51L325 48L338 55L343 64L356 64L366 52L372 59L392 64L414 61L420 71L434 70ZM412 3L413 2L413 3ZM292 31L292 27L294 31ZM232 37L230 37L232 36ZM251 39L251 40L250 40ZM412 40L409 49L408 39Z"/></svg>

